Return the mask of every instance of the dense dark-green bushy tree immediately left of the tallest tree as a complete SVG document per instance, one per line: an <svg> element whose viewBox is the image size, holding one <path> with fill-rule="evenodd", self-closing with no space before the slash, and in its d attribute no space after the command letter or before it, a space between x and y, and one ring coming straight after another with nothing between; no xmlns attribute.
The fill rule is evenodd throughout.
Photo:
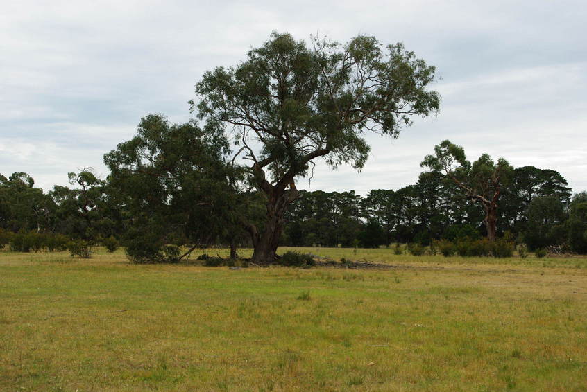
<svg viewBox="0 0 587 392"><path fill-rule="evenodd" d="M151 114L133 139L105 154L112 197L132 217L124 242L133 262L177 262L164 244L205 246L240 233L246 208L237 192L239 169L225 160L228 149L221 127L175 125Z"/></svg>

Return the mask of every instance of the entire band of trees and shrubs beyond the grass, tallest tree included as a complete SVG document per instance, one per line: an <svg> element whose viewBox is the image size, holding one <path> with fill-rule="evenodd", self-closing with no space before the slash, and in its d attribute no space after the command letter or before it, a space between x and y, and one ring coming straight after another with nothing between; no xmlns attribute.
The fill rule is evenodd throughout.
<svg viewBox="0 0 587 392"><path fill-rule="evenodd" d="M424 157L412 186L366 197L298 190L318 161L363 168L366 132L396 138L415 118L437 114L435 72L375 37L341 44L273 33L243 62L204 73L192 120L142 118L133 139L104 155L105 179L83 168L69 173L71 187L44 193L26 173L0 177L0 244L28 238L9 233L121 241L135 262L176 262L226 244L231 257L250 246L253 262L267 263L279 244L493 242L508 233L531 248L587 251L585 194L571 197L559 173L514 169L487 154L470 162L450 141Z"/></svg>

